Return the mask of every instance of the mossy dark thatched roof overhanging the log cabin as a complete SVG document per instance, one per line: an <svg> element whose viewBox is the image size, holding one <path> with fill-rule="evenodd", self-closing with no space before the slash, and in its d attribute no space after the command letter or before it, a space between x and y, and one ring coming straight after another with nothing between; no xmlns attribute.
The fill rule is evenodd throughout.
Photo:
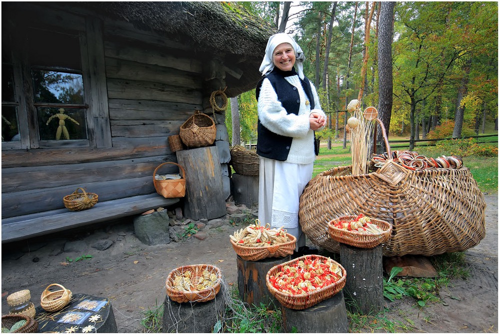
<svg viewBox="0 0 500 335"><path fill-rule="evenodd" d="M76 4L76 3L73 3ZM276 29L236 4L219 2L87 2L78 5L100 15L151 29L169 39L192 45L194 50L217 56L229 69L227 96L255 88L265 45Z"/></svg>

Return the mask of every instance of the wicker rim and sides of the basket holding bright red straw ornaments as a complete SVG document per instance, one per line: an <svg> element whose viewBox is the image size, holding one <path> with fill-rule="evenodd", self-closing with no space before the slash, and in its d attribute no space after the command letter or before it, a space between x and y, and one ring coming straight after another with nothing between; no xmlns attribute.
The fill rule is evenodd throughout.
<svg viewBox="0 0 500 335"><path fill-rule="evenodd" d="M276 300L281 303L283 307L286 308L291 308L291 309L305 309L314 306L320 301L323 301L325 299L328 299L332 297L333 295L337 294L340 292L340 290L345 286L345 280L347 277L347 273L345 272L345 269L340 265L339 263L335 262L334 260L331 260L332 262L336 263L338 267L342 270L342 277L335 281L332 284L329 284L327 286L318 288L316 290L307 292L307 293L302 293L302 294L290 294L290 293L284 293L278 289L276 289L274 286L272 286L269 277L271 275L275 275L278 271L282 269L284 265L290 265L292 263L295 263L299 260L305 260L305 259L314 259L314 258L321 258L326 260L327 257L320 256L320 255L305 255L302 257L295 258L293 260L284 262L282 264L275 265L269 269L265 276L265 284L267 286L267 289L269 292L276 298Z"/></svg>

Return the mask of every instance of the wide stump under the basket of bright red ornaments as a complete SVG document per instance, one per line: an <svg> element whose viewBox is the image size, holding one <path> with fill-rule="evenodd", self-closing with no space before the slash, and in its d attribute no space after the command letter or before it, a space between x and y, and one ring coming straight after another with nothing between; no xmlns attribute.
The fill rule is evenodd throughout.
<svg viewBox="0 0 500 335"><path fill-rule="evenodd" d="M342 291L306 309L281 306L285 332L344 332L349 330Z"/></svg>

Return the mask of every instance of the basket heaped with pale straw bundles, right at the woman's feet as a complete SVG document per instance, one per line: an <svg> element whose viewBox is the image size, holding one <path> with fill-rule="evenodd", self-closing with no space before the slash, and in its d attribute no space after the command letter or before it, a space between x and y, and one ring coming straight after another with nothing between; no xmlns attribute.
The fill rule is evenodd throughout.
<svg viewBox="0 0 500 335"><path fill-rule="evenodd" d="M229 238L236 254L249 261L291 255L297 240L283 227L271 228L268 223L262 226L258 219L255 224L235 231Z"/></svg>

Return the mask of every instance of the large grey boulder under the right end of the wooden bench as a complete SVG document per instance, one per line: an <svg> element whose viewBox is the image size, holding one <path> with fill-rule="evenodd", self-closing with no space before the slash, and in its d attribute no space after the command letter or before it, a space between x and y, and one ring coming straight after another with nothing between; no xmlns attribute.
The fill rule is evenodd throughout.
<svg viewBox="0 0 500 335"><path fill-rule="evenodd" d="M166 211L136 216L133 219L135 236L147 245L168 244L170 243L169 220Z"/></svg>

